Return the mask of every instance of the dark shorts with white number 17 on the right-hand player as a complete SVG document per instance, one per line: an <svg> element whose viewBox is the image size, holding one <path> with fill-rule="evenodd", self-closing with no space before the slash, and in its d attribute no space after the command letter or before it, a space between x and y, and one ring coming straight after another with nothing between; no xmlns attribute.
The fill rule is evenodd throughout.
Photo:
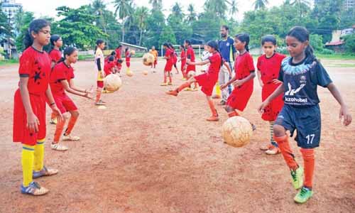
<svg viewBox="0 0 355 213"><path fill-rule="evenodd" d="M320 106L292 107L283 106L275 124L285 127L291 136L295 130L297 146L301 148L316 148L320 146L321 116Z"/></svg>

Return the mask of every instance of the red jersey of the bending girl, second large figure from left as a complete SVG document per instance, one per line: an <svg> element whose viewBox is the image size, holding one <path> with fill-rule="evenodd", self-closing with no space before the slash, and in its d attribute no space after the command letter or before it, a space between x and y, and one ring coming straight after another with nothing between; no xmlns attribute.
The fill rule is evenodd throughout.
<svg viewBox="0 0 355 213"><path fill-rule="evenodd" d="M60 62L53 67L50 74L50 89L53 94L63 94L65 89L62 85L62 80L70 82L74 78L74 69L70 65L66 65L65 62Z"/></svg>

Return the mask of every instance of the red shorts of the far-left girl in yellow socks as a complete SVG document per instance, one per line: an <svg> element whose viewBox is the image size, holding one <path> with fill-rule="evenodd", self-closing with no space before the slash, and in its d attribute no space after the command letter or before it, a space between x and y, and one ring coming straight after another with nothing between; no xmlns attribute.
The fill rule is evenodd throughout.
<svg viewBox="0 0 355 213"><path fill-rule="evenodd" d="M35 146L38 140L45 139L45 94L30 94L30 102L33 113L40 121L38 132L30 132L27 128L27 114L23 107L20 90L17 89L13 103L13 142Z"/></svg>

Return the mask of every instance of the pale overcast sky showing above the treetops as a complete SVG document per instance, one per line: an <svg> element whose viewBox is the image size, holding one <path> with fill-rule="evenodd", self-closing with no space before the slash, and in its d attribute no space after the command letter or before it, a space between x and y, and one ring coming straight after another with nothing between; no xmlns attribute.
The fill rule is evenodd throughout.
<svg viewBox="0 0 355 213"><path fill-rule="evenodd" d="M269 6L277 6L283 3L284 0L273 0L269 1ZM58 6L70 6L73 8L77 8L79 6L82 6L84 4L89 4L92 2L92 0L60 0L60 1L48 1L48 0L16 0L17 3L23 4L23 9L25 11L33 11L35 13L35 16L38 18L39 16L52 16L54 17L56 15L55 9ZM113 6L111 4L111 0L104 0L105 3L108 4L108 9L113 11ZM149 8L151 7L150 4L148 4L149 0L135 0L134 3L136 6L148 6ZM169 0L163 0L163 9L165 10L165 16L169 13L171 7L173 4L175 4L176 0L169 1ZM183 9L186 11L187 6L192 3L195 5L195 9L197 12L202 11L202 6L204 4L204 0L200 1L180 1L180 5L183 7ZM242 13L245 11L251 11L253 10L253 0L237 0L238 6L239 6L239 16L238 20L241 20Z"/></svg>

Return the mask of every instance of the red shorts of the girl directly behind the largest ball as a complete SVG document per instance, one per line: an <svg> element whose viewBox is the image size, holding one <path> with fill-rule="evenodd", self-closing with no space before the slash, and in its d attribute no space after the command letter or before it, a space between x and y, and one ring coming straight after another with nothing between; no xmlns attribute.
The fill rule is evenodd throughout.
<svg viewBox="0 0 355 213"><path fill-rule="evenodd" d="M252 93L253 84L244 84L241 87L236 87L229 95L226 105L239 111L244 111Z"/></svg>

